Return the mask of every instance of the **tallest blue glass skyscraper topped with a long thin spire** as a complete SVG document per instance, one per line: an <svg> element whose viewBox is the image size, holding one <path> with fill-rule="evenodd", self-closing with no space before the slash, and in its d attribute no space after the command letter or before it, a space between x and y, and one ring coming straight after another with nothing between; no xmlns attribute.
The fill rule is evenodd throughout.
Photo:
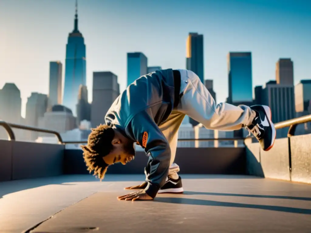
<svg viewBox="0 0 311 233"><path fill-rule="evenodd" d="M74 116L76 113L79 86L86 85L86 57L85 44L81 32L78 30L78 7L76 0L76 14L74 29L68 36L66 45L65 85L63 105L70 108Z"/></svg>

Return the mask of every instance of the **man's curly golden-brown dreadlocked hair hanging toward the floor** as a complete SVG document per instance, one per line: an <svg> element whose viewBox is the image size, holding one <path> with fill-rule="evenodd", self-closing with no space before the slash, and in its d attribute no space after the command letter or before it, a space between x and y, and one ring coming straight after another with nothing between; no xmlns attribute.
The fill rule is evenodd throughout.
<svg viewBox="0 0 311 233"><path fill-rule="evenodd" d="M86 163L87 170L100 180L104 179L108 164L105 163L103 157L108 155L113 149L111 144L114 138L114 130L107 125L97 126L91 129L88 137L87 145L82 145L83 158Z"/></svg>

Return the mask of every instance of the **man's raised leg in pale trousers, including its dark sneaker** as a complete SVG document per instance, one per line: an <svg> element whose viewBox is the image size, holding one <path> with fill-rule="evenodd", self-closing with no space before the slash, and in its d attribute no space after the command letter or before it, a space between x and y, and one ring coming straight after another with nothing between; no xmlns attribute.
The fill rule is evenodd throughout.
<svg viewBox="0 0 311 233"><path fill-rule="evenodd" d="M239 130L246 127L258 139L262 149L272 148L276 130L271 121L268 106L234 106L228 103L216 104L215 100L192 71L181 73L181 94L177 110L202 123L207 129ZM241 90L243 91L243 90Z"/></svg>

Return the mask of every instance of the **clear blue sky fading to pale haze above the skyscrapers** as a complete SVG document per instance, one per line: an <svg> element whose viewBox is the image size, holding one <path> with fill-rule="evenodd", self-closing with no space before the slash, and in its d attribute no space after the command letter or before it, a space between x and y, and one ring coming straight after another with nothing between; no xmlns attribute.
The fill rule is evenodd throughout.
<svg viewBox="0 0 311 233"><path fill-rule="evenodd" d="M89 100L93 71L114 72L125 89L127 52L143 52L149 66L185 68L189 32L204 35L204 74L214 80L217 102L228 95L229 51L252 52L253 87L275 79L280 57L294 61L295 83L311 78L309 0L78 0L78 4ZM65 63L74 11L75 0L0 0L0 88L5 82L16 83L22 116L31 92L48 93L49 61Z"/></svg>

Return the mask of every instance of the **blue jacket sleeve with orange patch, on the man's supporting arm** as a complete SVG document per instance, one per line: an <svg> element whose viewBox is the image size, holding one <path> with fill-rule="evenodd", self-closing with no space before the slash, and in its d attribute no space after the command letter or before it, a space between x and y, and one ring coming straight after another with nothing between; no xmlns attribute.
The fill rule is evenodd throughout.
<svg viewBox="0 0 311 233"><path fill-rule="evenodd" d="M129 122L131 129L128 130L132 131L134 138L149 157L145 167L148 182L145 191L155 198L168 176L171 151L168 141L148 111L150 110L146 109L137 113Z"/></svg>

